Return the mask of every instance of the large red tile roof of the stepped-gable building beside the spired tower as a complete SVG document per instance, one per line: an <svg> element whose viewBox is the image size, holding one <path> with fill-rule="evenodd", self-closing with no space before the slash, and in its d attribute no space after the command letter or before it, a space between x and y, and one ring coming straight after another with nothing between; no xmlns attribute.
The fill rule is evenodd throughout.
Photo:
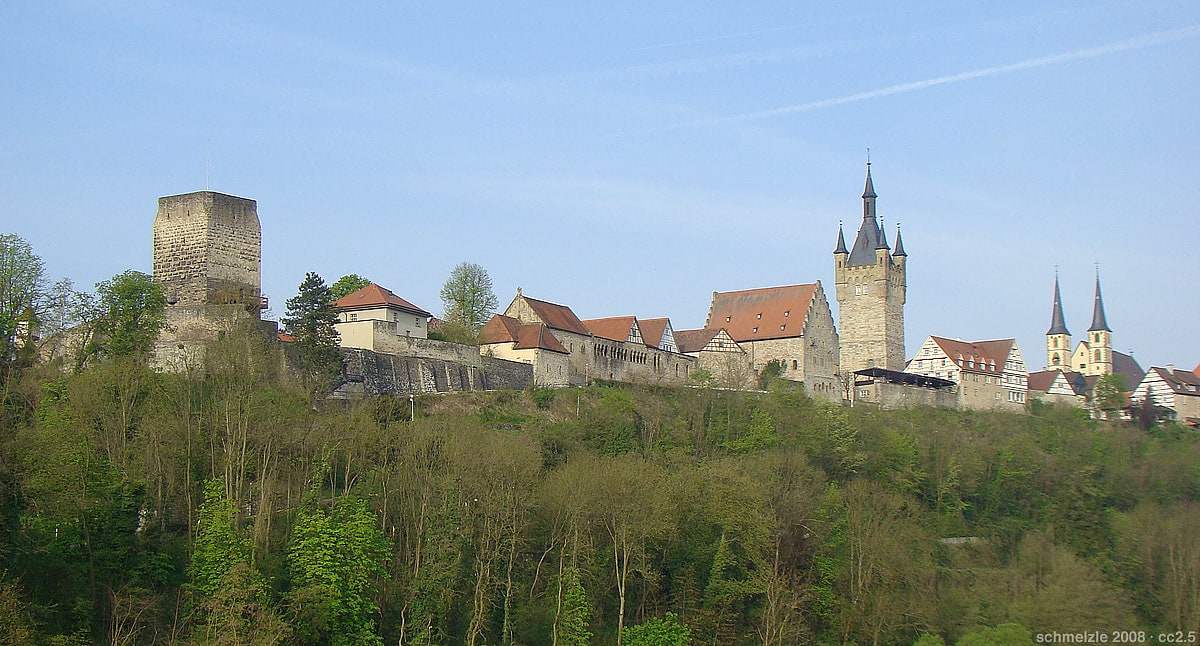
<svg viewBox="0 0 1200 646"><path fill-rule="evenodd" d="M738 342L800 336L816 292L816 283L714 292L704 328L724 327Z"/></svg>

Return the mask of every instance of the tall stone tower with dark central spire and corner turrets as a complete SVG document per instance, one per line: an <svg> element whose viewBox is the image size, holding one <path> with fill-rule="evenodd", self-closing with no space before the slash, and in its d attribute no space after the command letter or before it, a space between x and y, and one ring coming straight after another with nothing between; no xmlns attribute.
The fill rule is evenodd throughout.
<svg viewBox="0 0 1200 646"><path fill-rule="evenodd" d="M908 288L900 227L896 249L888 247L887 235L875 211L871 162L866 162L863 190L863 222L854 246L846 249L841 225L833 252L838 291L838 333L842 375L866 367L904 370L904 304Z"/></svg>

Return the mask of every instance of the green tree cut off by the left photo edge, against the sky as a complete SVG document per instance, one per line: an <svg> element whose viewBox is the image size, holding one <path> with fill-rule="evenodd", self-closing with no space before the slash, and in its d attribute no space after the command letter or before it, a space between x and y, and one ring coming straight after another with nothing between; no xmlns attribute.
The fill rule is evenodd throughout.
<svg viewBox="0 0 1200 646"><path fill-rule="evenodd" d="M36 315L46 288L44 265L19 235L0 235L0 360L12 360L32 330L19 334Z"/></svg>

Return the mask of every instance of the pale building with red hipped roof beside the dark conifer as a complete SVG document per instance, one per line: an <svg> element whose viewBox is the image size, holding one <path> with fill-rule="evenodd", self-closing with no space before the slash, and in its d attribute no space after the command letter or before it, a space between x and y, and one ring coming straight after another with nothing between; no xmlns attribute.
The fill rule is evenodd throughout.
<svg viewBox="0 0 1200 646"><path fill-rule="evenodd" d="M427 339L430 312L376 283L334 301L342 347L378 351L391 337Z"/></svg>

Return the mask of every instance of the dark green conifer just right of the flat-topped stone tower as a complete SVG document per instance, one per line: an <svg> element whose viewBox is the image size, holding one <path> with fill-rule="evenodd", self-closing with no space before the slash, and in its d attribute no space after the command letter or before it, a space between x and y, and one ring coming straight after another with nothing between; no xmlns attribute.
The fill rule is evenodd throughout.
<svg viewBox="0 0 1200 646"><path fill-rule="evenodd" d="M295 335L300 363L308 378L326 384L342 370L334 294L316 271L305 274L296 295L288 299L284 329Z"/></svg>

